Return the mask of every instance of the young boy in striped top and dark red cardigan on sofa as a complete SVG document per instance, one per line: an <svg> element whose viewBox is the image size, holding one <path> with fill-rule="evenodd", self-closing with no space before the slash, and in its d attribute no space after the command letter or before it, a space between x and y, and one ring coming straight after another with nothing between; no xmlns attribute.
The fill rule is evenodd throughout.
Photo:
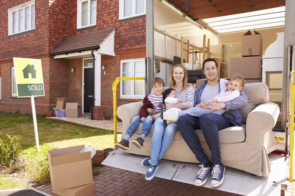
<svg viewBox="0 0 295 196"><path fill-rule="evenodd" d="M146 96L143 100L144 105L140 109L140 115L132 119L129 127L126 131L126 137L115 144L116 147L128 150L129 149L129 139L133 136L139 125L143 122L143 127L141 130L141 136L132 141L136 147L143 148L145 137L148 135L152 123L160 116L161 107L159 107L159 102L163 102L163 90L165 87L165 82L162 78L155 77L151 81L152 90L154 94ZM147 108L153 109L157 114L150 116L148 115Z"/></svg>

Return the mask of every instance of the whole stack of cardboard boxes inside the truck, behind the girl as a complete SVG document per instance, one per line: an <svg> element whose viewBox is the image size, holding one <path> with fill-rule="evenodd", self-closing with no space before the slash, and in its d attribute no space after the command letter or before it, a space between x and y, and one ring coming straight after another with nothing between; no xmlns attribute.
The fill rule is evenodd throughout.
<svg viewBox="0 0 295 196"><path fill-rule="evenodd" d="M229 59L229 78L241 74L246 83L261 82L262 78L262 37L254 30L243 35L242 57Z"/></svg>

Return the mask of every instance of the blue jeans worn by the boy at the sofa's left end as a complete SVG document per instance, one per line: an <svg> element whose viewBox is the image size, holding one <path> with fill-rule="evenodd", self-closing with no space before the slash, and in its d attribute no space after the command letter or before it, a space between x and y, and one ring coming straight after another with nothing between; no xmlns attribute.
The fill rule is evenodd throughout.
<svg viewBox="0 0 295 196"><path fill-rule="evenodd" d="M147 116L147 118L144 120L144 123L143 123L143 128L141 130L141 134L144 134L145 136L148 135L150 129L151 129L151 126L152 126L152 123L154 122L154 120L151 118L150 115ZM127 128L127 131L126 131L126 135L129 135L130 137L133 136L133 134L135 133L135 131L138 129L139 125L141 124L141 120L140 120L140 116L136 116L132 119L129 127Z"/></svg>

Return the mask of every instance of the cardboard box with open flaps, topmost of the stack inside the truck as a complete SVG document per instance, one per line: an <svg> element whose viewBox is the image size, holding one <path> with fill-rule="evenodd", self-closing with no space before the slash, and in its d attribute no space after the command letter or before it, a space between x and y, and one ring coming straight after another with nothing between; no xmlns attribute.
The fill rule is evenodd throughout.
<svg viewBox="0 0 295 196"><path fill-rule="evenodd" d="M255 34L251 34L248 30L243 35L242 56L262 56L262 37L259 32L254 30Z"/></svg>

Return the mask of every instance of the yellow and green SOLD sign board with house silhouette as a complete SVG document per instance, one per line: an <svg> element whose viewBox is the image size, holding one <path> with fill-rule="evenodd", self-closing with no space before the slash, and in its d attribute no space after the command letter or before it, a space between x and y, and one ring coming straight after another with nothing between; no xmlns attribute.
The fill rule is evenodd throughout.
<svg viewBox="0 0 295 196"><path fill-rule="evenodd" d="M41 59L13 58L17 97L44 96Z"/></svg>

